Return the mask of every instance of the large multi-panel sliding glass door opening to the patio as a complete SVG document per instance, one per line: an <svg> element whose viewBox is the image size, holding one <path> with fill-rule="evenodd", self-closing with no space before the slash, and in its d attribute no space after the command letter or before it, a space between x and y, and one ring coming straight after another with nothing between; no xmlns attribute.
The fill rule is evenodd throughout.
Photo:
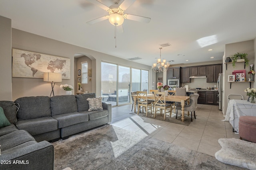
<svg viewBox="0 0 256 170"><path fill-rule="evenodd" d="M131 103L131 91L148 91L148 70L118 64L101 64L102 100L112 106Z"/></svg>

